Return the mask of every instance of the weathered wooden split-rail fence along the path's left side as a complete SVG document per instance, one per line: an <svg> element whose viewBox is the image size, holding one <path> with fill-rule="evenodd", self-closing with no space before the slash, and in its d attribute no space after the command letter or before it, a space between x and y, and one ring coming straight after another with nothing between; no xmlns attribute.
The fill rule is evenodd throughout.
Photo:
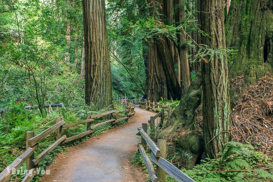
<svg viewBox="0 0 273 182"><path fill-rule="evenodd" d="M112 108L110 108L109 111L105 113L99 113L94 115L87 113L86 120L83 120L77 123L71 123L71 124L65 124L65 121L61 120L61 117L59 116L59 117L56 117L56 124L54 124L53 126L49 127L48 129L44 130L43 132L39 133L36 136L34 136L33 131L26 132L26 151L22 155L17 157L15 161L13 161L8 167L6 167L0 173L0 182L5 182L6 180L8 180L8 178L12 176L12 173L18 170L19 167L22 166L24 162L26 162L26 169L29 170L29 172L26 174L22 182L28 182L32 180L32 178L38 172L39 162L41 162L42 159L44 159L45 156L49 154L58 145L89 135L94 132L94 129L96 127L102 126L104 124L107 124L107 123L115 124L122 120L127 121L130 116L133 116L135 114L134 108L136 106L133 103L125 103L124 106L125 106L124 110L117 111L117 112L115 110L112 110ZM125 113L125 117L114 119L114 116L117 116L119 113ZM91 123L97 117L105 116L105 115L109 115L109 120L91 126ZM85 132L75 136L71 136L71 137L66 137L66 135L62 135L62 130L65 130L67 128L71 128L80 124L84 124L84 123L86 123L86 126L87 126ZM39 142L54 131L56 135L56 141L52 145L50 145L47 149L42 151L37 157L34 158L34 151L38 148Z"/></svg>

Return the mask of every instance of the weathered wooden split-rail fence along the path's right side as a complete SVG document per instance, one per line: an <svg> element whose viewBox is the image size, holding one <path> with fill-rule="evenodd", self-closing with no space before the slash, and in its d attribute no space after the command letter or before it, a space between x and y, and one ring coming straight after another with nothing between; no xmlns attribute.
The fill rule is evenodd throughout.
<svg viewBox="0 0 273 182"><path fill-rule="evenodd" d="M166 160L166 153L167 153L167 140L157 140L156 142L156 129L155 129L155 119L160 117L160 123L158 127L162 127L165 124L164 117L170 116L171 114L171 107L164 106L161 104L154 104L150 103L149 101L139 102L140 104L143 103L144 108L149 108L153 111L160 111L155 116L151 116L148 123L142 123L142 127L137 128L139 131L136 135L141 136L141 143L137 145L138 150L146 164L148 169L148 173L150 176L151 182L166 182L166 172L176 179L179 182L194 182L189 176L175 167L172 163ZM151 104L151 105L150 105ZM155 108L155 106L158 106ZM161 110L159 110L161 108ZM164 108L167 109L167 112L164 112ZM148 128L150 127L150 136L147 134ZM151 150L150 158L146 153L146 147L149 146ZM157 165L156 171L154 170L153 163Z"/></svg>

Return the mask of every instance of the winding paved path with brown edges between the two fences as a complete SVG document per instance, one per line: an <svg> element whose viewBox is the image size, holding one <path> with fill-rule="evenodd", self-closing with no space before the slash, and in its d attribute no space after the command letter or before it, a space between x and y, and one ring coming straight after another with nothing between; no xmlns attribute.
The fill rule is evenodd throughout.
<svg viewBox="0 0 273 182"><path fill-rule="evenodd" d="M140 143L137 127L155 113L138 107L135 111L128 123L69 147L68 153L60 154L52 163L50 174L45 174L42 181L145 182L147 175L130 161Z"/></svg>

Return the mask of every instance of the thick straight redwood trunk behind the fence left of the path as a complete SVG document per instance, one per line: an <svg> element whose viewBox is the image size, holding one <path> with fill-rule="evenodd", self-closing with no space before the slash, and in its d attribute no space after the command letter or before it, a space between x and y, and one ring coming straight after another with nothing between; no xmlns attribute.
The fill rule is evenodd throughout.
<svg viewBox="0 0 273 182"><path fill-rule="evenodd" d="M106 35L104 0L83 0L85 103L102 109L112 105L112 76Z"/></svg>

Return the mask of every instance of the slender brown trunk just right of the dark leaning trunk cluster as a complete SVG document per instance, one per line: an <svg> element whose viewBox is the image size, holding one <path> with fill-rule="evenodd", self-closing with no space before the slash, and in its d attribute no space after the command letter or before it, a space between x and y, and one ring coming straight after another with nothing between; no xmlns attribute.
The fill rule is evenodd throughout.
<svg viewBox="0 0 273 182"><path fill-rule="evenodd" d="M176 25L178 26L183 24L185 19L184 0L174 0L174 13ZM181 65L181 89L182 94L184 94L190 86L191 76L187 57L186 34L183 28L178 30L177 45Z"/></svg>

